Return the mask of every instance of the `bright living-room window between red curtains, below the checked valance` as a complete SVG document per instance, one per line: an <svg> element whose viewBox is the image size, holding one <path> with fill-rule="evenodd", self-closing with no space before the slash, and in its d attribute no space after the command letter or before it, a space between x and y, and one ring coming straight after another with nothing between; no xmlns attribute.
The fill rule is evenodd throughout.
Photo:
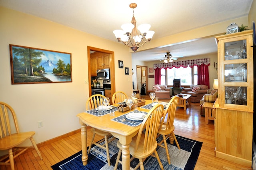
<svg viewBox="0 0 256 170"><path fill-rule="evenodd" d="M180 78L181 85L190 85L196 84L197 85L197 66L193 66L192 68L187 67L180 67L180 68L164 68L161 69L161 84L166 84L172 86L173 79Z"/></svg>

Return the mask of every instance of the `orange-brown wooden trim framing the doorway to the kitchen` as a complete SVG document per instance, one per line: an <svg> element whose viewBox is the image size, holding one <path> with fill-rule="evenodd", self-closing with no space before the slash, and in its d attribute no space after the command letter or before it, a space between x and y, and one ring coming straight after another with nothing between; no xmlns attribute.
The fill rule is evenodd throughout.
<svg viewBox="0 0 256 170"><path fill-rule="evenodd" d="M115 78L115 62L114 62L114 52L109 50L104 50L96 47L87 46L87 58L88 58L88 68L91 65L90 51L103 52L109 54L110 62L110 81L111 81L111 94L116 91L116 78ZM88 84L89 84L89 96L92 96L91 82L91 69L88 69Z"/></svg>

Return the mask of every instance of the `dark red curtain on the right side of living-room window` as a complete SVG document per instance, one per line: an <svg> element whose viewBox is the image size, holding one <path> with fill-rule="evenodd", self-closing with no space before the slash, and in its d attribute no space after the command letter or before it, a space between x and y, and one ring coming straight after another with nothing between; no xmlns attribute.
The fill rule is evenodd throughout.
<svg viewBox="0 0 256 170"><path fill-rule="evenodd" d="M208 70L209 65L210 64L208 65L201 64L200 66L197 66L197 76L198 76L197 84L205 84L206 86L208 86L208 89L210 89L209 70Z"/></svg>

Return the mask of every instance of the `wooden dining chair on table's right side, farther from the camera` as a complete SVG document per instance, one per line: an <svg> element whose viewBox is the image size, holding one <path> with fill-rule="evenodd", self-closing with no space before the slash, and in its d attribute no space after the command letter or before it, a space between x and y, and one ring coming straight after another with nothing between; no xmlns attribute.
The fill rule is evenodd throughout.
<svg viewBox="0 0 256 170"><path fill-rule="evenodd" d="M158 130L158 136L160 135L163 136L163 140L158 143L158 146L165 148L168 164L171 164L170 155L169 155L168 147L166 143L166 140L168 139L168 137L169 137L170 143L173 144L173 141L175 140L177 147L180 149L180 145L174 134L174 129L175 129L174 116L175 116L176 107L178 104L178 99L179 99L178 96L174 96L166 106L166 110L164 111L162 120L160 122L159 130ZM163 142L164 142L164 146L162 145Z"/></svg>

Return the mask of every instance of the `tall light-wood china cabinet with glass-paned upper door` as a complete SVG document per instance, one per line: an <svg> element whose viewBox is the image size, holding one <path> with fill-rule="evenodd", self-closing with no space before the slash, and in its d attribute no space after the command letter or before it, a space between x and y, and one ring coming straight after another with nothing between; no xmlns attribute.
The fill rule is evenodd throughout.
<svg viewBox="0 0 256 170"><path fill-rule="evenodd" d="M252 165L252 30L215 37L218 42L218 98L214 103L216 157Z"/></svg>

